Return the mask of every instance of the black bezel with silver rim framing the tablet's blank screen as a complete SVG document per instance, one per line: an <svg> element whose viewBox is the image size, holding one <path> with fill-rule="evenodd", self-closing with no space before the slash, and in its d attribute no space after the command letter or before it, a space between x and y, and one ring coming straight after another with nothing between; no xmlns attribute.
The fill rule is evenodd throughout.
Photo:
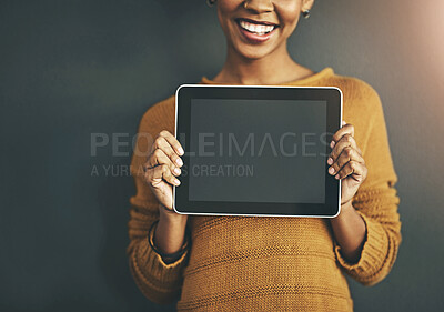
<svg viewBox="0 0 444 312"><path fill-rule="evenodd" d="M182 160L186 168L190 163L186 140L181 142L178 133L185 133L185 138L190 138L191 99L322 100L326 101L327 107L326 141L330 142L333 133L342 128L343 94L336 87L182 84L175 91L174 135L185 150ZM179 102L181 102L180 105ZM329 154L330 151L330 147L326 147L325 153ZM325 157L325 203L190 201L188 174L179 177L181 179L179 187L173 185L173 210L180 214L191 215L334 218L341 212L342 183L341 180L327 173L327 167ZM204 212L204 208L209 205L218 208L219 212ZM254 213L236 212L240 209L251 209Z"/></svg>

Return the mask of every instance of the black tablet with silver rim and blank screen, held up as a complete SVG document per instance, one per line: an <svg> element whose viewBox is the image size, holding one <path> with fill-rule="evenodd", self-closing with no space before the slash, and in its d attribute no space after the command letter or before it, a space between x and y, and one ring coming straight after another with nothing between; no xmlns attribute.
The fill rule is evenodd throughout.
<svg viewBox="0 0 444 312"><path fill-rule="evenodd" d="M337 215L341 181L326 160L341 121L334 87L180 85L174 134L185 154L174 211Z"/></svg>

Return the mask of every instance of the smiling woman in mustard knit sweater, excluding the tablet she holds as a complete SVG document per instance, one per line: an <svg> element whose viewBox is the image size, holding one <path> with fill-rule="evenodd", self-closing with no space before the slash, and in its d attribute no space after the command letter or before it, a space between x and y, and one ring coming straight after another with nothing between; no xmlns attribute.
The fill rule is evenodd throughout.
<svg viewBox="0 0 444 312"><path fill-rule="evenodd" d="M174 97L151 107L132 159L137 195L129 222L130 268L142 293L178 310L352 311L344 273L371 285L386 276L401 243L397 181L377 93L367 83L297 64L286 42L314 0L218 0L226 61L201 83L334 85L343 128L329 173L342 180L334 219L186 217L172 210L183 150ZM214 2L214 1L211 1ZM153 141L147 140L152 137ZM139 170L144 168L144 171Z"/></svg>

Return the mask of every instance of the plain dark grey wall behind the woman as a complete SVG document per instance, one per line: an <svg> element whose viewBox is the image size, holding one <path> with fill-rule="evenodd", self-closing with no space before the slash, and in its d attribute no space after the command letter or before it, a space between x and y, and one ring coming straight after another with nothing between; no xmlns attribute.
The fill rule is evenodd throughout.
<svg viewBox="0 0 444 312"><path fill-rule="evenodd" d="M381 284L351 282L356 311L444 308L443 11L440 0L317 0L290 40L299 62L367 81L384 105L403 244ZM224 51L204 0L0 1L0 311L173 311L129 274L134 188L117 170L143 112L214 77ZM91 133L128 145L92 155Z"/></svg>

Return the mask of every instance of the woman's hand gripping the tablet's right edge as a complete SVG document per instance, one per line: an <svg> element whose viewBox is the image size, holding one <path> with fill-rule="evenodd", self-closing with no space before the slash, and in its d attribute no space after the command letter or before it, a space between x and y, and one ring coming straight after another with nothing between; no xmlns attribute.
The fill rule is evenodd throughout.
<svg viewBox="0 0 444 312"><path fill-rule="evenodd" d="M361 149L354 140L354 127L342 122L343 127L334 133L327 158L329 173L342 180L341 205L349 203L367 177L367 168Z"/></svg>

